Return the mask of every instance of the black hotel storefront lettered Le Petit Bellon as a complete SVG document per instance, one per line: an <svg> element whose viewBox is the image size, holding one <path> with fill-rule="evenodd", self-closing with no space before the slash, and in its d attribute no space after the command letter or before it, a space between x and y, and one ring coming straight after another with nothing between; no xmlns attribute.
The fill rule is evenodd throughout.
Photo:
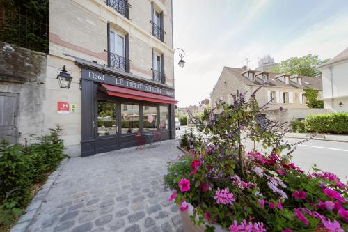
<svg viewBox="0 0 348 232"><path fill-rule="evenodd" d="M136 146L134 134L175 139L174 89L111 68L81 68L81 156Z"/></svg>

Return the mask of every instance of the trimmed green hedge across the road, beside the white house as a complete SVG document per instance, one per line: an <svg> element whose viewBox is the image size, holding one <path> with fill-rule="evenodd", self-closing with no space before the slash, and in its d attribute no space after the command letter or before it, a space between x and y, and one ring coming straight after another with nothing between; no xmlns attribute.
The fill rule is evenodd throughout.
<svg viewBox="0 0 348 232"><path fill-rule="evenodd" d="M307 132L348 134L348 112L306 116Z"/></svg>

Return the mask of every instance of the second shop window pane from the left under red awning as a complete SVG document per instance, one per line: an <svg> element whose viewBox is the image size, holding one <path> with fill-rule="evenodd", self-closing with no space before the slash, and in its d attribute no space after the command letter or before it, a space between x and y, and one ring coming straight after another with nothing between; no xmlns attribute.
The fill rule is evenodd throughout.
<svg viewBox="0 0 348 232"><path fill-rule="evenodd" d="M139 105L121 104L121 132L130 134L139 132Z"/></svg>

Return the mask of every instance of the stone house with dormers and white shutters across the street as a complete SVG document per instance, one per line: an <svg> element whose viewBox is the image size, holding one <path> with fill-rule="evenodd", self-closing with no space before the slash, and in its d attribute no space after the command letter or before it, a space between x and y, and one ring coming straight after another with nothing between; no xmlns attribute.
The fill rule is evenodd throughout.
<svg viewBox="0 0 348 232"><path fill-rule="evenodd" d="M264 86L256 93L256 100L260 106L271 101L269 110L279 107L308 109L303 95L306 88L319 90L319 98L322 98L321 78L224 67L212 91L212 107L219 101L231 103L239 93L246 93L246 98L249 98L262 84Z"/></svg>

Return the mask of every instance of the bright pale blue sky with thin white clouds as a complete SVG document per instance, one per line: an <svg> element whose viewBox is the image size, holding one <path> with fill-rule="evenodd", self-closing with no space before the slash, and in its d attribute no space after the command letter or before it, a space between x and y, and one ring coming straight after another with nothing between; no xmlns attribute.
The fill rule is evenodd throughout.
<svg viewBox="0 0 348 232"><path fill-rule="evenodd" d="M209 98L223 66L256 68L270 54L276 62L317 54L332 58L348 47L347 0L173 0L174 47L180 107Z"/></svg>

